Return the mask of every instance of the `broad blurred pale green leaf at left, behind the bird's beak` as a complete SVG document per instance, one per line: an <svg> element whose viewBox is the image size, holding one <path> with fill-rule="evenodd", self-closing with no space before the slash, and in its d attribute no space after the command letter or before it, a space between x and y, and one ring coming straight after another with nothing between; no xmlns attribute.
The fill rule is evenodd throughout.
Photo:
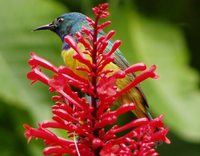
<svg viewBox="0 0 200 156"><path fill-rule="evenodd" d="M35 5L37 3L39 5ZM26 73L30 70L27 61L30 51L42 53L52 61L55 59L56 63L62 61L59 59L60 52L55 50L60 47L52 44L57 39L54 45L60 46L58 38L53 40L51 38L55 36L50 36L51 33L47 33L49 37L44 33L33 33L32 30L51 22L64 8L54 2L39 0L1 1L0 6L4 6L0 14L3 21L0 27L0 98L6 103L27 109L37 121L50 117L52 103L48 88L39 84L30 85L26 79Z"/></svg>

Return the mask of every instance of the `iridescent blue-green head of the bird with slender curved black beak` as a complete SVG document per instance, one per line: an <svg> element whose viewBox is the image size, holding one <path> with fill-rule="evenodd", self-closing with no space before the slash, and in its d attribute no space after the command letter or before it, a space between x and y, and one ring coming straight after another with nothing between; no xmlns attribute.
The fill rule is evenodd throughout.
<svg viewBox="0 0 200 156"><path fill-rule="evenodd" d="M76 32L81 30L82 25L87 24L86 16L81 13L66 13L59 16L50 24L46 24L36 28L38 30L51 30L58 34L61 40L64 40L66 35L74 36Z"/></svg>

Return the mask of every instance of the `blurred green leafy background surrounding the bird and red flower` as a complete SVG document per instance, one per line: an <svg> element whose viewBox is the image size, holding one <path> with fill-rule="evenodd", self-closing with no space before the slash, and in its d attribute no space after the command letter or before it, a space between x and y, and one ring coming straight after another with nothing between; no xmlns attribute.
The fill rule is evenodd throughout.
<svg viewBox="0 0 200 156"><path fill-rule="evenodd" d="M105 1L0 1L0 153L1 156L40 156L43 144L27 141L23 123L36 126L51 118L53 102L47 87L26 80L31 51L56 65L61 42L50 32L36 32L65 12L92 16L92 6ZM110 29L121 39L130 63L156 64L158 80L142 84L150 111L164 114L171 145L160 155L200 155L200 1L110 0Z"/></svg>

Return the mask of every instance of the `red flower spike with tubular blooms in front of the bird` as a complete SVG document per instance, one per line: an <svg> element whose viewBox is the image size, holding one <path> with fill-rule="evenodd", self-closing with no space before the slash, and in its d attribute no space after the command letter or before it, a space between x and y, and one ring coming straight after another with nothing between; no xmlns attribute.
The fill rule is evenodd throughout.
<svg viewBox="0 0 200 156"><path fill-rule="evenodd" d="M94 31L83 28L82 33L77 33L78 41L85 47L85 52L78 49L76 41L71 36L65 37L65 42L76 51L74 59L85 65L78 67L78 70L86 72L89 79L80 77L68 67L56 67L31 53L29 65L32 70L27 75L28 79L32 82L41 81L49 86L51 92L57 93L52 98L55 101L55 105L52 106L52 121L40 123L38 128L24 125L28 142L33 137L44 140L46 144L44 155L156 156L158 155L155 150L157 142L170 143L166 137L168 128L163 127L163 116L152 120L139 118L123 126L116 123L120 115L133 111L135 104L121 104L113 110L111 109L113 102L142 81L158 76L155 74L155 65L148 69L143 63L114 73L112 69L104 70L106 65L113 62L113 53L121 44L121 41L115 41L111 50L105 53L114 31L97 38L99 31L110 24L110 22L98 24L99 19L109 15L107 10L107 3L93 8L96 16L95 22L89 18L88 22ZM82 35L83 33L86 37ZM90 57L88 58L86 55ZM52 71L54 76L47 76L41 71L41 68ZM123 79L132 72L141 73L125 88L118 90L117 80ZM86 96L80 96L73 91L72 86ZM108 129L108 126L111 128ZM66 137L59 137L50 129L64 130ZM118 135L125 130L129 130L129 132L122 136Z"/></svg>

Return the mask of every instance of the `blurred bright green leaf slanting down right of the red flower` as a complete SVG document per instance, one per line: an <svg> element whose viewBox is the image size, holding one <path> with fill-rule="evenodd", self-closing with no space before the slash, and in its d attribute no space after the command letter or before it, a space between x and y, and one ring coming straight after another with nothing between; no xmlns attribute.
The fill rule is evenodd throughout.
<svg viewBox="0 0 200 156"><path fill-rule="evenodd" d="M127 8L121 7L120 12L113 8L111 18L129 61L157 65L160 78L142 84L150 111L164 114L171 131L182 139L200 142L198 75L189 66L180 28Z"/></svg>

